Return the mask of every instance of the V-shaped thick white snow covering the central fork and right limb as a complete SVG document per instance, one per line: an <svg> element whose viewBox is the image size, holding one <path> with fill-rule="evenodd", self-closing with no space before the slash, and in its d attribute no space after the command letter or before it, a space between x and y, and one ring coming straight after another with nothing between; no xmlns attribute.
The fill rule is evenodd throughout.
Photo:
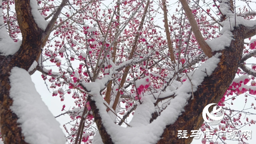
<svg viewBox="0 0 256 144"><path fill-rule="evenodd" d="M152 144L158 142L160 136L164 132L164 128L168 124L173 124L181 112L184 111L184 106L187 104L187 100L191 97L191 91L196 91L197 87L203 82L205 76L209 76L217 67L221 54L218 53L212 58L209 58L204 64L193 72L188 73L188 77L191 80L183 82L178 90L174 93L176 97L171 100L171 104L161 112L156 120L148 124L149 116L154 111L154 104L150 102L152 96L142 97L142 104L138 105L133 120L130 122L131 127L123 128L112 122L112 118L106 112L106 106L103 105L104 100L100 96L99 90L91 88L90 94L92 94L92 100L95 101L99 114L102 118L102 124L106 128L108 134L110 134L112 141L116 144ZM207 70L207 74L205 73ZM93 87L93 86L92 86ZM100 86L98 86L100 87ZM164 93L164 92L163 92ZM166 92L173 94L173 92ZM150 100L147 99L150 98ZM137 113L137 114L136 114ZM145 125L146 124L146 125ZM94 144L100 144L98 141Z"/></svg>

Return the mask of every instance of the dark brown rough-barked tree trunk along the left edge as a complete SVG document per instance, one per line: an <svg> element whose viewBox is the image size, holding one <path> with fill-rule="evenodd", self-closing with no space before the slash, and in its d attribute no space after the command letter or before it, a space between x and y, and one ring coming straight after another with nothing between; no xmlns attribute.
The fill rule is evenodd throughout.
<svg viewBox="0 0 256 144"><path fill-rule="evenodd" d="M18 117L10 110L10 71L13 67L28 70L40 52L44 31L31 14L29 0L15 0L15 10L22 33L22 45L12 56L0 56L0 127L5 144L27 144L17 123Z"/></svg>

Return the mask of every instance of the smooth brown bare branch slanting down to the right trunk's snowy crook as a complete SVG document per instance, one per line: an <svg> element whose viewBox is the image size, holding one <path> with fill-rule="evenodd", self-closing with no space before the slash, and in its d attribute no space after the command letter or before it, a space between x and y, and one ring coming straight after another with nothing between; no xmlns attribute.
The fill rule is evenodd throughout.
<svg viewBox="0 0 256 144"><path fill-rule="evenodd" d="M200 46L200 48L204 51L205 55L208 56L208 58L212 57L212 49L208 46L208 44L205 42L199 27L197 25L197 22L192 14L192 10L189 8L188 3L186 0L180 0L180 3L182 4L182 8L186 12L186 15L188 17L188 21L190 23L190 26L192 28L192 31L194 32L194 35L196 37L196 40Z"/></svg>

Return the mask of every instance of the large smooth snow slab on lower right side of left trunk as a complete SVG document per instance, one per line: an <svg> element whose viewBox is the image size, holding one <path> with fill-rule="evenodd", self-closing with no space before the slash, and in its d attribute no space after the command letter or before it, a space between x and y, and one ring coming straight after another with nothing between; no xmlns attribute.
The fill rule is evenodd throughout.
<svg viewBox="0 0 256 144"><path fill-rule="evenodd" d="M14 67L10 74L11 110L18 116L25 142L29 144L65 144L60 124L36 91L28 72Z"/></svg>

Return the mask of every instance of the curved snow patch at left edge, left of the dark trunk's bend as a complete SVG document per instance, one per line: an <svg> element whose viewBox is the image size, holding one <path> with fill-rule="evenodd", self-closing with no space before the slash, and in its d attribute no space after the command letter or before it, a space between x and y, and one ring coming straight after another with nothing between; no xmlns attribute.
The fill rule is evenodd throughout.
<svg viewBox="0 0 256 144"><path fill-rule="evenodd" d="M2 4L2 0L0 0L0 4ZM20 49L22 41L14 42L8 35L4 26L2 11L0 8L0 53L2 56L14 55Z"/></svg>

